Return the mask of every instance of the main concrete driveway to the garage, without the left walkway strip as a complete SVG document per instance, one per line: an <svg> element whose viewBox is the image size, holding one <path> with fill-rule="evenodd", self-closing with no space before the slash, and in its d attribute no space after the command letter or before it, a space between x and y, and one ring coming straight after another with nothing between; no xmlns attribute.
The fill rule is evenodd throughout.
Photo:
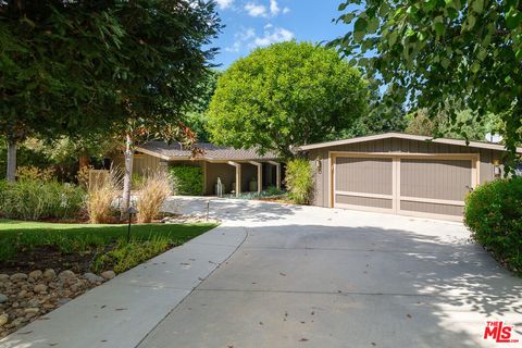
<svg viewBox="0 0 522 348"><path fill-rule="evenodd" d="M238 201L210 207L227 225L246 227L247 238L140 348L499 347L483 338L486 321L496 320L522 338L522 279L470 241L462 224Z"/></svg>

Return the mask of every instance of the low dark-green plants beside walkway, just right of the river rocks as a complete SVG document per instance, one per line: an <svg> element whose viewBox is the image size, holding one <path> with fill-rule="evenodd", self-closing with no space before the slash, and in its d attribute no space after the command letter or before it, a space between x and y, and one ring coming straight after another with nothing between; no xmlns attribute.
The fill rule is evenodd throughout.
<svg viewBox="0 0 522 348"><path fill-rule="evenodd" d="M170 247L171 241L166 237L156 237L147 241L119 240L114 249L95 257L91 270L96 273L107 270L121 273L156 257Z"/></svg>

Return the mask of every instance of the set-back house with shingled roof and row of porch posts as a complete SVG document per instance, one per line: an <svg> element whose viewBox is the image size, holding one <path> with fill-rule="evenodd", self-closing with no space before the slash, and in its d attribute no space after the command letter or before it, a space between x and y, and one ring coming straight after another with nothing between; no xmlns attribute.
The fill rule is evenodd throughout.
<svg viewBox="0 0 522 348"><path fill-rule="evenodd" d="M179 144L150 141L136 149L133 174L146 175L166 171L171 165L200 166L203 171L204 195L216 195L216 183L223 184L223 194L233 190L236 196L252 191L251 182L257 183L254 191L269 186L281 188L282 163L274 153L259 154L254 149L234 149L208 142L194 146L198 151L186 149ZM113 165L123 166L123 154L113 158ZM236 183L238 189L236 189Z"/></svg>

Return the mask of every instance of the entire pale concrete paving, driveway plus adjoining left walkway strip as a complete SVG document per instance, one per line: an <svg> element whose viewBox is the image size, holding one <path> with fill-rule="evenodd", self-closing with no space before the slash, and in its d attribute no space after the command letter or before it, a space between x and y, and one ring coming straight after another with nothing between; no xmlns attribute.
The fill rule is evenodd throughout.
<svg viewBox="0 0 522 348"><path fill-rule="evenodd" d="M462 224L236 200L210 215L226 221L0 347L499 347L488 320L522 338L522 279Z"/></svg>

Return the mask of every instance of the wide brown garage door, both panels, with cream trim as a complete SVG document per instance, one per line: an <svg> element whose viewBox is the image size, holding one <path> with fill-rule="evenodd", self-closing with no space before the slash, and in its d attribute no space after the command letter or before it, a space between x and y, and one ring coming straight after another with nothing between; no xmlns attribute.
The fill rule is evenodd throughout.
<svg viewBox="0 0 522 348"><path fill-rule="evenodd" d="M474 158L400 156L333 158L333 204L460 220L474 186Z"/></svg>

